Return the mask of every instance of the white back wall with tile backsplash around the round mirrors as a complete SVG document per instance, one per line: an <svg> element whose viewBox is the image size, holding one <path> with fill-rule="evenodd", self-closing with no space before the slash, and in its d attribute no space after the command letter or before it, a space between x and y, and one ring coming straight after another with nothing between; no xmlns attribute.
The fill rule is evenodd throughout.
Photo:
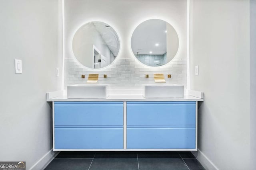
<svg viewBox="0 0 256 170"><path fill-rule="evenodd" d="M130 39L134 29L143 21L161 19L170 23L177 31L180 49L176 59L158 68L140 64L134 57L130 47ZM102 21L111 25L120 38L120 52L117 59L102 70L91 70L82 66L72 54L72 38L74 31L83 23ZM141 86L154 82L154 73L172 74L168 83L186 86L186 36L187 36L187 0L65 0L65 83L84 83L81 74L108 74L108 78L98 83L110 86ZM135 60L134 60L135 59ZM150 78L144 78L150 74Z"/></svg>

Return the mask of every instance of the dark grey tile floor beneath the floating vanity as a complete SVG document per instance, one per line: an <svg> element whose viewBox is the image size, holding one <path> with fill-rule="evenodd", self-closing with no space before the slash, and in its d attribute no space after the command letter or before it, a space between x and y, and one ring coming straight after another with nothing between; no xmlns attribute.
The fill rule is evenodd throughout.
<svg viewBox="0 0 256 170"><path fill-rule="evenodd" d="M204 170L191 152L60 152L45 170Z"/></svg>

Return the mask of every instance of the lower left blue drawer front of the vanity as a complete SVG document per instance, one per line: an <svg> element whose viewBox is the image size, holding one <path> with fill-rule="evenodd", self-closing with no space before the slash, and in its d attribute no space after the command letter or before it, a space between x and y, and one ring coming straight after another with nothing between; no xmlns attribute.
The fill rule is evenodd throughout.
<svg viewBox="0 0 256 170"><path fill-rule="evenodd" d="M55 128L55 149L123 149L123 128Z"/></svg>

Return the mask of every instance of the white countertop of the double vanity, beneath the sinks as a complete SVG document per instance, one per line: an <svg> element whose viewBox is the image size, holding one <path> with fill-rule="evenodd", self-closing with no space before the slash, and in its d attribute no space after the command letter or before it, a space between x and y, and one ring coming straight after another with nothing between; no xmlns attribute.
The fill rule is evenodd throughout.
<svg viewBox="0 0 256 170"><path fill-rule="evenodd" d="M142 95L110 95L108 98L67 98L66 95L47 99L47 102L129 102L129 101L204 101L203 98L186 95L184 98L144 98Z"/></svg>

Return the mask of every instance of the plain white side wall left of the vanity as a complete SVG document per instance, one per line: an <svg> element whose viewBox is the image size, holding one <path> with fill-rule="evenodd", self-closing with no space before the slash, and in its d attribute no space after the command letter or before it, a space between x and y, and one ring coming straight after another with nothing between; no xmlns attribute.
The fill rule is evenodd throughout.
<svg viewBox="0 0 256 170"><path fill-rule="evenodd" d="M55 76L62 66L59 5L0 0L0 161L26 161L26 169L41 158L35 169L43 168L53 154L46 92L61 89L61 74ZM22 60L22 74L14 73L14 59Z"/></svg>

